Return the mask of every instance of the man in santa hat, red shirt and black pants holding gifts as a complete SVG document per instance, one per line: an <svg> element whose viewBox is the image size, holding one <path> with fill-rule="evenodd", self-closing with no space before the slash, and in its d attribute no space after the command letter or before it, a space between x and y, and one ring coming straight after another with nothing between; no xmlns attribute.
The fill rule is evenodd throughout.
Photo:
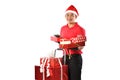
<svg viewBox="0 0 120 80"><path fill-rule="evenodd" d="M61 27L60 36L65 39L71 39L79 35L85 36L85 30L77 22L79 16L77 9L71 5L65 11L67 24ZM66 64L68 65L69 80L81 80L82 69L82 49L85 45L66 49Z"/></svg>

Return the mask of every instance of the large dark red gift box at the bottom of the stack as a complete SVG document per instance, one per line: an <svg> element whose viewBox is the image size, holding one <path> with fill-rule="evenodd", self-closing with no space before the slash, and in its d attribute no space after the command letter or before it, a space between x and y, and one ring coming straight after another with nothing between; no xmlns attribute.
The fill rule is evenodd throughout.
<svg viewBox="0 0 120 80"><path fill-rule="evenodd" d="M56 67L51 68L51 70L54 72L53 76L45 77L45 80L61 80L61 69ZM68 66L63 65L62 70L62 80L68 80ZM35 66L35 80L43 80L43 73L40 73L40 66Z"/></svg>

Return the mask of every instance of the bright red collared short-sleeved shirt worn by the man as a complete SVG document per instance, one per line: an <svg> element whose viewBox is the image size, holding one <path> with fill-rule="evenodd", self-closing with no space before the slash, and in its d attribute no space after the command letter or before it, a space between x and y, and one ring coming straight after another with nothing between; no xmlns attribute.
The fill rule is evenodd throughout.
<svg viewBox="0 0 120 80"><path fill-rule="evenodd" d="M76 23L72 28L69 28L68 24L61 27L60 36L63 38L70 39L72 37L77 37L78 35L85 36L84 28L78 25L78 23ZM81 50L70 50L70 53L81 54L82 51ZM66 54L68 54L68 52Z"/></svg>

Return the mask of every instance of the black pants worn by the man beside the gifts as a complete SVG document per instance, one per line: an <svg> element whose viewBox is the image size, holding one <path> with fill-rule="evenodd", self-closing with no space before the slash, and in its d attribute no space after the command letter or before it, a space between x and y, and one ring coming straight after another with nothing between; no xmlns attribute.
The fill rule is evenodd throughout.
<svg viewBox="0 0 120 80"><path fill-rule="evenodd" d="M69 56L66 55L66 64L68 65L69 80L81 80L82 56L72 54L69 59Z"/></svg>

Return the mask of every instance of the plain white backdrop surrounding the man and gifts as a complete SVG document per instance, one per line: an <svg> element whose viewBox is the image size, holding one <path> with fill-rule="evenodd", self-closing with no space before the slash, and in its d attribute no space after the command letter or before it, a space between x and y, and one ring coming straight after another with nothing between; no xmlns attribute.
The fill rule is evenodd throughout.
<svg viewBox="0 0 120 80"><path fill-rule="evenodd" d="M86 29L82 80L120 80L119 0L1 0L0 80L34 80L34 66L57 44L50 36L66 24L73 4Z"/></svg>

